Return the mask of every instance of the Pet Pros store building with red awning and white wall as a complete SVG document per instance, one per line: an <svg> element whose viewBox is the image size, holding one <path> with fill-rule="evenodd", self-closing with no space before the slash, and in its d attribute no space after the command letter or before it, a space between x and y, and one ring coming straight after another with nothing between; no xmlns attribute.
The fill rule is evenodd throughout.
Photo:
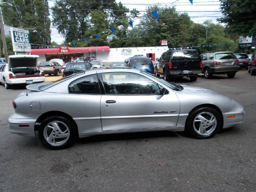
<svg viewBox="0 0 256 192"><path fill-rule="evenodd" d="M97 59L102 60L103 62L116 62L124 61L127 58L138 54L148 56L154 61L167 50L168 46L129 48L110 48L109 46L71 48L68 46L60 46L58 48L31 49L30 54L38 55L38 62L48 61L54 58L59 58L64 62L69 62L76 57L86 58L87 56L96 56Z"/></svg>

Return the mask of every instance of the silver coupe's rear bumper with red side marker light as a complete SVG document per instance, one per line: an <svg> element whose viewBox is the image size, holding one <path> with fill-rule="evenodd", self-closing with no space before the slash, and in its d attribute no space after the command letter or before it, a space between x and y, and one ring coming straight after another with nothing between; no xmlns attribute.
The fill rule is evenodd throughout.
<svg viewBox="0 0 256 192"><path fill-rule="evenodd" d="M34 137L35 123L40 114L14 113L8 118L11 133Z"/></svg>

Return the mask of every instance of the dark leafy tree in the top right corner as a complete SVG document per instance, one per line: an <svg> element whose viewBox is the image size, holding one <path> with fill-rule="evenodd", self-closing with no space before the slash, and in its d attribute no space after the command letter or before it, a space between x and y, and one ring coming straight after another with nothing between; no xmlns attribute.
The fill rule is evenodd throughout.
<svg viewBox="0 0 256 192"><path fill-rule="evenodd" d="M255 0L220 0L224 17L217 20L235 34L256 37L255 7Z"/></svg>

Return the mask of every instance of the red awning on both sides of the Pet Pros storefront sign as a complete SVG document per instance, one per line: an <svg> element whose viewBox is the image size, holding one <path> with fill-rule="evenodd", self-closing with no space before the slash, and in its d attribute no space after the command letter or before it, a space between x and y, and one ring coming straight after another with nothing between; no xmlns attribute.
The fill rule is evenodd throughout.
<svg viewBox="0 0 256 192"><path fill-rule="evenodd" d="M92 52L92 51L109 51L109 46L98 46L98 47L70 47L70 53L76 52ZM59 48L42 48L42 49L31 49L31 54L40 54L40 53L60 53Z"/></svg>

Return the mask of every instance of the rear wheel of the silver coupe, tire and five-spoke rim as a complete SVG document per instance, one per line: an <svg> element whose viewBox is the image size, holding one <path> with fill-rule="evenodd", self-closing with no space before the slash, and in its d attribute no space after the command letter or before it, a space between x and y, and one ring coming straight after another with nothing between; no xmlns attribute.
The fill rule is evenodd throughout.
<svg viewBox="0 0 256 192"><path fill-rule="evenodd" d="M77 131L73 122L60 116L53 116L40 124L38 135L46 147L59 150L74 144Z"/></svg>

